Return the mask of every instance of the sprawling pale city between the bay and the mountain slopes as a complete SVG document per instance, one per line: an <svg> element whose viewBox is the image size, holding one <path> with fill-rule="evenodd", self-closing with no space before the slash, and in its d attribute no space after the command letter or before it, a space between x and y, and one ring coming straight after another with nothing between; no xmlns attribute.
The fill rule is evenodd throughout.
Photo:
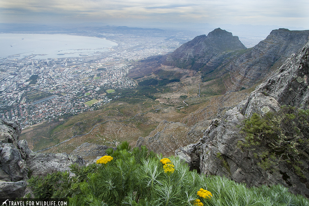
<svg viewBox="0 0 309 206"><path fill-rule="evenodd" d="M127 77L132 62L167 54L181 45L180 38L190 38L151 35L105 33L118 45L103 52L81 51L78 57L58 54L44 59L44 54L20 54L0 58L0 118L18 120L26 128L109 103L108 93L136 86Z"/></svg>

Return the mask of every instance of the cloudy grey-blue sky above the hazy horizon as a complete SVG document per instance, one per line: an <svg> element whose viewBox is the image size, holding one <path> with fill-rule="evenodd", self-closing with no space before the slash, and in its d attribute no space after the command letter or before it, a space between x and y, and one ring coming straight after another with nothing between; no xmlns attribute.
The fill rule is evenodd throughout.
<svg viewBox="0 0 309 206"><path fill-rule="evenodd" d="M252 24L309 29L308 0L0 0L0 23Z"/></svg>

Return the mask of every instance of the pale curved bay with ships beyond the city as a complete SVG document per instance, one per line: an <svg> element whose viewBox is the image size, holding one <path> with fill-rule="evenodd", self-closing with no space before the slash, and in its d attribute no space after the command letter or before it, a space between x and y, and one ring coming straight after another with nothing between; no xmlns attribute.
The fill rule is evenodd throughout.
<svg viewBox="0 0 309 206"><path fill-rule="evenodd" d="M80 57L108 51L117 43L106 39L65 34L0 34L0 58L40 54L34 58ZM44 54L44 55L42 55Z"/></svg>

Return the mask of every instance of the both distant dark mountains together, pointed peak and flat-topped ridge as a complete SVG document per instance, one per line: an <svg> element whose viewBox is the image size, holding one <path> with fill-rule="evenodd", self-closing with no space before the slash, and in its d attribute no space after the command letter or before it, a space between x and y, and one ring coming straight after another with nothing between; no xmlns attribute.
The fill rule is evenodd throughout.
<svg viewBox="0 0 309 206"><path fill-rule="evenodd" d="M155 74L162 78L165 77L166 66L170 66L171 72L178 67L200 71L203 81L223 79L226 91L239 91L267 80L308 40L309 30L281 28L273 30L265 40L247 49L237 36L217 28L207 36L195 37L171 54L138 62L129 76L138 78Z"/></svg>

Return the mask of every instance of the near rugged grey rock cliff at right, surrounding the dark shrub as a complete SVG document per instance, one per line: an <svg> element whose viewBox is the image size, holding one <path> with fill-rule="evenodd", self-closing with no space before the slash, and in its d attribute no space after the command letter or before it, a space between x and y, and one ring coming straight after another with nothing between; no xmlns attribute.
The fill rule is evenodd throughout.
<svg viewBox="0 0 309 206"><path fill-rule="evenodd" d="M248 99L228 110L221 120L213 120L196 144L179 148L175 154L204 174L224 175L248 186L282 184L293 193L309 197L308 160L302 160L303 176L295 174L286 164L265 170L254 156L254 152L263 152L263 147L253 152L242 151L237 146L243 140L239 125L253 113L264 115L269 110L279 110L280 104L308 108L308 55L309 42Z"/></svg>

